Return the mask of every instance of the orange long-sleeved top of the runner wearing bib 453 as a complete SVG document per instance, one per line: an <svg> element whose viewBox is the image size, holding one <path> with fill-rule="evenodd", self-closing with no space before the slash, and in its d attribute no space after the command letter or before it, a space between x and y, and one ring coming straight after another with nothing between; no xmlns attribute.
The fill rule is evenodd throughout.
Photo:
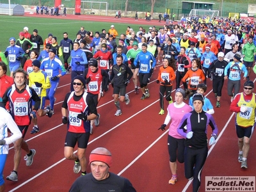
<svg viewBox="0 0 256 192"><path fill-rule="evenodd" d="M163 86L172 86L173 80L176 78L175 72L172 67L168 66L166 68L160 67L158 72L157 80L160 82ZM164 84L164 79L167 79L170 84L166 85Z"/></svg>

